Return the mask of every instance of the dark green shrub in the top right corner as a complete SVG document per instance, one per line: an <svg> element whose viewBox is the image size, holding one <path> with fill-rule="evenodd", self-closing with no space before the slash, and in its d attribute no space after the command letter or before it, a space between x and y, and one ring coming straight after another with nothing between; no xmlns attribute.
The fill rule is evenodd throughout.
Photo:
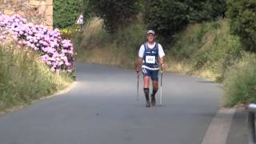
<svg viewBox="0 0 256 144"><path fill-rule="evenodd" d="M256 1L227 0L230 27L247 51L256 52Z"/></svg>

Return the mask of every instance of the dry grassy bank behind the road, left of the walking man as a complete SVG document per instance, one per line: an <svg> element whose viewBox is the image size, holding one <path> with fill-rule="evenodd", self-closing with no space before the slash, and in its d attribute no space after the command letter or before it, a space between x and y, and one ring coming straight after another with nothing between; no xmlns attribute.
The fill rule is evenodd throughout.
<svg viewBox="0 0 256 144"><path fill-rule="evenodd" d="M77 62L134 68L145 31L142 25L136 24L120 34L107 34L102 29L102 20L93 18L74 42Z"/></svg>

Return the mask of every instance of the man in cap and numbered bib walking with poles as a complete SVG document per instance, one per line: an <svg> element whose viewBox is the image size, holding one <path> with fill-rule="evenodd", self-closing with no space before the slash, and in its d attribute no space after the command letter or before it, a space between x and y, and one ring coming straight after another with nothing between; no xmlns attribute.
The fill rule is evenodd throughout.
<svg viewBox="0 0 256 144"><path fill-rule="evenodd" d="M158 42L154 42L154 30L148 30L146 33L147 42L145 42L138 52L138 61L136 72L138 76L142 71L144 77L144 94L146 97L146 107L155 106L155 94L158 92L158 72L159 64L165 67L165 53ZM150 95L150 78L152 80L153 90ZM151 97L151 98L150 98ZM151 99L151 102L150 102Z"/></svg>

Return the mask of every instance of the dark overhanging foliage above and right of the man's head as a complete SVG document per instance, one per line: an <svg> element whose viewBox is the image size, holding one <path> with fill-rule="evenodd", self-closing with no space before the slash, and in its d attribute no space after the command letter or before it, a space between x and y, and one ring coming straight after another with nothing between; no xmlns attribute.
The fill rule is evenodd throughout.
<svg viewBox="0 0 256 144"><path fill-rule="evenodd" d="M225 0L144 0L145 23L169 42L188 23L224 17Z"/></svg>

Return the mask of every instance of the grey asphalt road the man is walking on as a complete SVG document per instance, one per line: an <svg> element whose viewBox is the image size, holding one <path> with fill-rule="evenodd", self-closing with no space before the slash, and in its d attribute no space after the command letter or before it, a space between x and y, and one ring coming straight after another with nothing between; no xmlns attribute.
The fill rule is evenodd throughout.
<svg viewBox="0 0 256 144"><path fill-rule="evenodd" d="M0 116L0 143L201 144L221 88L178 74L163 79L163 106L146 108L142 87L136 102L133 70L78 64L67 94Z"/></svg>

